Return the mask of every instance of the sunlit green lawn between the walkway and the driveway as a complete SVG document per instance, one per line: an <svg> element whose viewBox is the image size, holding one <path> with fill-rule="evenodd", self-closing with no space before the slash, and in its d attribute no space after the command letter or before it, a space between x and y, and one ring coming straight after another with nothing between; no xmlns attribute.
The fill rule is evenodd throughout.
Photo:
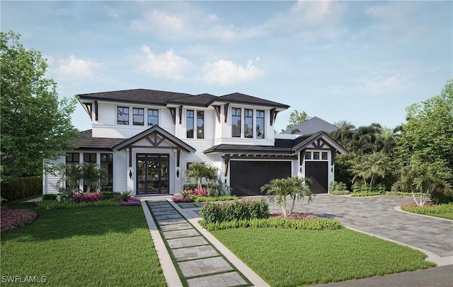
<svg viewBox="0 0 453 287"><path fill-rule="evenodd" d="M348 229L211 232L271 286L306 286L424 269L426 255Z"/></svg>

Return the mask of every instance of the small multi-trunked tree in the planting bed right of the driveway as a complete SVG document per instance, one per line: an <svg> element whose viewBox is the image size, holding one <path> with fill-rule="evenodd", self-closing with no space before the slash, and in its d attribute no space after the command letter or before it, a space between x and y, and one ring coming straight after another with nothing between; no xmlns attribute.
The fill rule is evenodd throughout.
<svg viewBox="0 0 453 287"><path fill-rule="evenodd" d="M451 192L452 186L442 178L441 168L433 163L412 163L401 169L394 192L411 192L415 204L423 206L430 194L439 189Z"/></svg>

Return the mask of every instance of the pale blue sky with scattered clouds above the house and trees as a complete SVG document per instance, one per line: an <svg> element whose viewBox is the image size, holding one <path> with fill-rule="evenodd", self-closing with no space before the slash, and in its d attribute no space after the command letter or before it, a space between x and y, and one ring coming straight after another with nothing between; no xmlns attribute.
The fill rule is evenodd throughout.
<svg viewBox="0 0 453 287"><path fill-rule="evenodd" d="M1 1L1 30L48 59L60 97L245 93L394 128L453 78L453 1ZM90 129L80 106L74 125Z"/></svg>

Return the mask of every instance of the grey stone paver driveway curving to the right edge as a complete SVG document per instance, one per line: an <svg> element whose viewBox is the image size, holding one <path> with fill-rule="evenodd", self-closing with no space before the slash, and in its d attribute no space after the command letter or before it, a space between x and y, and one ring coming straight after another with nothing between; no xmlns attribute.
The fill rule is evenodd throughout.
<svg viewBox="0 0 453 287"><path fill-rule="evenodd" d="M452 257L453 221L394 209L395 206L409 202L413 202L411 197L344 197L316 194L311 203L307 203L306 199L296 202L294 211L338 219L349 228L428 250L439 257ZM275 204L270 204L270 211L280 209Z"/></svg>

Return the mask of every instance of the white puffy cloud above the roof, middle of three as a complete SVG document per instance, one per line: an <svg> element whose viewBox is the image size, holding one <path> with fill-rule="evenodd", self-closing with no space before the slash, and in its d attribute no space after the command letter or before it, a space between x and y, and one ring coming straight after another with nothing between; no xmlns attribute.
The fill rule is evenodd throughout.
<svg viewBox="0 0 453 287"><path fill-rule="evenodd" d="M185 78L185 71L193 66L189 59L180 57L173 49L162 54L154 53L147 45L142 45L142 54L138 57L138 69L156 78L175 81Z"/></svg>

